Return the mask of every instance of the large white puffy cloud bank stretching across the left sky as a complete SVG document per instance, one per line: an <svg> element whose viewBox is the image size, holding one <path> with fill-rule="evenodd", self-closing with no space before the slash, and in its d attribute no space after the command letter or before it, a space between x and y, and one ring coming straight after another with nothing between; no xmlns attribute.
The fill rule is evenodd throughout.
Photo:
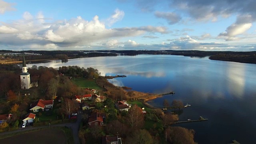
<svg viewBox="0 0 256 144"><path fill-rule="evenodd" d="M116 14L111 17L116 18L115 20L120 20L122 14L117 13L122 12L116 10ZM139 36L149 33L168 33L167 28L164 26L106 28L104 22L101 22L98 16L94 16L89 21L84 20L81 16L70 20L52 22L49 20L47 23L44 22L45 19L47 18L45 18L42 12L39 12L36 16L32 16L29 12L24 12L22 19L0 26L0 43L6 47L20 47L31 44L33 48L36 46L38 48L46 46L46 48L82 49L109 39ZM112 43L114 47L115 44L113 41ZM122 44L136 46L134 41L131 41L130 45L128 43ZM111 46L111 42L106 44L106 46Z"/></svg>

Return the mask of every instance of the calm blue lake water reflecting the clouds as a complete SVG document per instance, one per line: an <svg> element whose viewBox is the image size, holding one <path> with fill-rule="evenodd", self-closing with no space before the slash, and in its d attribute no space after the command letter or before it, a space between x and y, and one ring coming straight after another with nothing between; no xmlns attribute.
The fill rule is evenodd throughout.
<svg viewBox="0 0 256 144"><path fill-rule="evenodd" d="M150 103L162 107L164 99L191 104L180 121L208 118L204 122L179 124L195 130L199 144L256 143L256 64L242 64L171 55L138 55L72 59L32 65L97 68L104 75L126 75L110 80L141 92L174 91Z"/></svg>

